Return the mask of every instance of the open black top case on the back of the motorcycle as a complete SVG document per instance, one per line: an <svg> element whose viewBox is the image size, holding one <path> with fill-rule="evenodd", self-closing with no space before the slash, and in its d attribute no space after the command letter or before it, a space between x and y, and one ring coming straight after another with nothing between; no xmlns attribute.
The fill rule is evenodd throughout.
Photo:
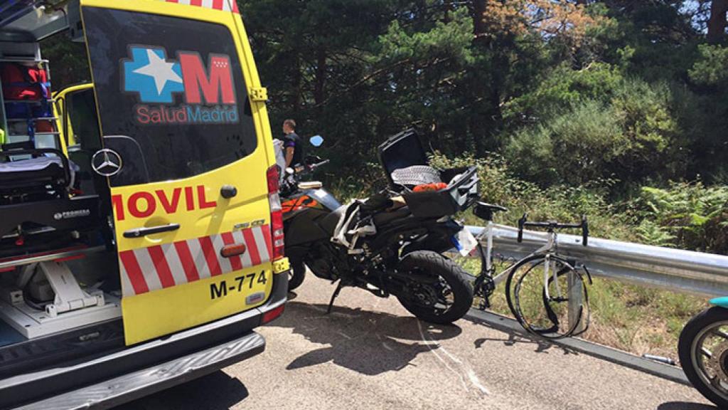
<svg viewBox="0 0 728 410"><path fill-rule="evenodd" d="M398 190L415 217L432 218L456 214L478 198L478 170L475 166L438 171L447 187L437 191L414 192L395 183L392 172L411 166L429 166L422 142L413 129L389 137L379 145L379 160L389 185Z"/></svg>

